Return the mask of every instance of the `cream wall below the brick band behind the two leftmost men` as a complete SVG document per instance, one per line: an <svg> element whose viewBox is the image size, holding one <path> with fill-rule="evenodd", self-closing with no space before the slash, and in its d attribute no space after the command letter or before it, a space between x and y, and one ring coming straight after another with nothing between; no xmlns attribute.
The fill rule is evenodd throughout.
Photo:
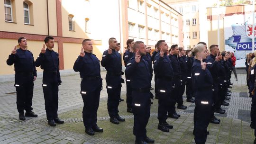
<svg viewBox="0 0 256 144"><path fill-rule="evenodd" d="M15 39L3 39L0 38L1 44L1 53L0 53L0 75L14 74L14 64L9 66L6 64L6 60L11 54L15 45L18 45L18 40ZM41 53L41 49L43 48L43 41L27 41L27 50L32 52L34 59L36 61L37 56ZM58 43L55 42L54 51L58 52ZM37 72L42 72L40 67L37 67Z"/></svg>

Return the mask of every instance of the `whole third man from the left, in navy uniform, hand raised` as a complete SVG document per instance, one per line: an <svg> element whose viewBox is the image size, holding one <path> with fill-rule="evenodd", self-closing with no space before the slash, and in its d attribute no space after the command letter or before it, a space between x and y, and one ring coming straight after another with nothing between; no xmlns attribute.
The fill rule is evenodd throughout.
<svg viewBox="0 0 256 144"><path fill-rule="evenodd" d="M92 49L91 40L84 39L81 53L73 66L73 70L79 72L82 79L81 95L84 103L82 118L85 132L88 135L94 135L94 132L103 132L103 129L97 126L97 110L102 89L101 68L96 55L91 54Z"/></svg>

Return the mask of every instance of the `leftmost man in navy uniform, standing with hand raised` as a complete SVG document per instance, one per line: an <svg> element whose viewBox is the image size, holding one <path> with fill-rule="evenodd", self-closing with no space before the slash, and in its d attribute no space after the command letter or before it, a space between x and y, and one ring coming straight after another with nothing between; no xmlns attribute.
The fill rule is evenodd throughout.
<svg viewBox="0 0 256 144"><path fill-rule="evenodd" d="M33 54L27 50L27 39L18 38L19 49L14 46L6 63L14 63L15 84L17 92L17 109L20 120L26 120L26 117L37 117L32 111L32 98L34 90L34 81L37 79L37 70ZM26 110L24 116L24 110Z"/></svg>

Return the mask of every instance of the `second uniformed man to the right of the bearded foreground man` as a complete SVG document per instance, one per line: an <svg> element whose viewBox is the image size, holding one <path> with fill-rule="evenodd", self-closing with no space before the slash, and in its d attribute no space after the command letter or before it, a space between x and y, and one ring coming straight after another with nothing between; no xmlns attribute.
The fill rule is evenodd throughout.
<svg viewBox="0 0 256 144"><path fill-rule="evenodd" d="M179 109L186 109L187 106L183 105L183 96L182 96L182 71L181 71L181 57L182 54L179 54L179 48L178 45L172 45L171 49L173 51L173 55L169 55L169 58L172 61L172 67L173 67L173 71L174 71L174 97L177 100L178 106L177 108ZM175 117L173 117L175 118Z"/></svg>

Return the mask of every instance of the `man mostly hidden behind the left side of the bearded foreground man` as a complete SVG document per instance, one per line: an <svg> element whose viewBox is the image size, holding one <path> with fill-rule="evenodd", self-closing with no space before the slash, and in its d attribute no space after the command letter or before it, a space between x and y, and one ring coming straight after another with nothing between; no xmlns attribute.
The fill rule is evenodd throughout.
<svg viewBox="0 0 256 144"><path fill-rule="evenodd" d="M125 67L127 66L127 63L129 59L131 59L134 56L133 53L133 45L134 45L134 39L128 39L126 42L127 45L127 51L123 55L123 60L125 63ZM127 104L127 112L132 113L132 96L131 96L131 80L127 74L125 74L126 79L126 104Z"/></svg>

